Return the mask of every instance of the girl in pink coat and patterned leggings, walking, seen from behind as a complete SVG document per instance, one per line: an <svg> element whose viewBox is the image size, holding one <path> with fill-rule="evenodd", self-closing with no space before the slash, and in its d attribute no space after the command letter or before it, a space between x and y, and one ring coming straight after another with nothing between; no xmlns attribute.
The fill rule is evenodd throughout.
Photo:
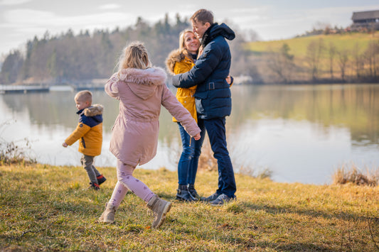
<svg viewBox="0 0 379 252"><path fill-rule="evenodd" d="M124 48L118 72L105 84L105 92L119 100L119 115L110 141L110 151L117 158L118 182L99 219L102 222L114 222L114 213L128 190L153 210L153 228L161 226L171 208L171 202L160 199L144 182L133 177L137 165L149 162L156 155L161 105L183 124L190 136L200 138L196 121L165 82L166 72L151 67L146 48L136 42Z"/></svg>

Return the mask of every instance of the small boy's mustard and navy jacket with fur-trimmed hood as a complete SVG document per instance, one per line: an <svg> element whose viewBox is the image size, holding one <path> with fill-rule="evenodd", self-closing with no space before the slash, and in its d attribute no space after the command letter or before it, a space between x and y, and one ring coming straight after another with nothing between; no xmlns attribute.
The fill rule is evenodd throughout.
<svg viewBox="0 0 379 252"><path fill-rule="evenodd" d="M103 106L95 104L81 109L78 126L65 140L69 146L79 141L79 152L84 155L100 155L102 149L102 111Z"/></svg>

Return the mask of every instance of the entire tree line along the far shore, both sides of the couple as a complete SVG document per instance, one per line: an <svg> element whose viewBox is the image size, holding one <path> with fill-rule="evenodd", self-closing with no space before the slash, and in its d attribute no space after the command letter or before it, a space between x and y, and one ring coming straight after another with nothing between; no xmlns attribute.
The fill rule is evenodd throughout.
<svg viewBox="0 0 379 252"><path fill-rule="evenodd" d="M302 57L295 57L292 51L296 48L287 43L279 49L255 53L247 45L257 40L257 34L243 33L233 23L225 23L236 33L235 39L228 41L232 52L230 74L247 77L249 83L379 82L378 39L367 48L357 44L353 50L344 50L320 38L309 42ZM133 25L113 31L80 31L77 35L70 29L60 35L46 31L42 38L28 40L25 50L12 50L6 55L0 83L80 84L107 79L115 71L122 48L134 40L146 45L153 65L165 68L166 57L178 48L179 33L186 28L191 28L188 17L176 14L171 21L166 14L156 23L139 17Z"/></svg>

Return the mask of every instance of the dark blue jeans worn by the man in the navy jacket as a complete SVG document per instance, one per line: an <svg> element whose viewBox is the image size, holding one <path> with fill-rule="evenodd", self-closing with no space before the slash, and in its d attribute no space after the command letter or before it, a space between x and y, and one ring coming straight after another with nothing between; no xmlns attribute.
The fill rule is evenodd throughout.
<svg viewBox="0 0 379 252"><path fill-rule="evenodd" d="M218 119L198 119L198 126L201 131L206 129L210 147L213 150L213 157L218 164L218 190L219 195L235 197L236 185L232 161L226 147L225 117Z"/></svg>

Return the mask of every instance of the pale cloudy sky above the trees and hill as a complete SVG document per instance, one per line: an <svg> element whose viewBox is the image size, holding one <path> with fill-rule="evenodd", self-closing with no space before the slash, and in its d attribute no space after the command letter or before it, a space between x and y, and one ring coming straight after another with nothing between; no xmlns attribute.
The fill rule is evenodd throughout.
<svg viewBox="0 0 379 252"><path fill-rule="evenodd" d="M124 28L138 17L151 24L166 14L190 17L198 9L213 11L215 22L237 31L255 31L260 40L280 40L311 31L319 23L346 27L353 11L379 10L378 0L0 0L0 60L25 48L34 36Z"/></svg>

